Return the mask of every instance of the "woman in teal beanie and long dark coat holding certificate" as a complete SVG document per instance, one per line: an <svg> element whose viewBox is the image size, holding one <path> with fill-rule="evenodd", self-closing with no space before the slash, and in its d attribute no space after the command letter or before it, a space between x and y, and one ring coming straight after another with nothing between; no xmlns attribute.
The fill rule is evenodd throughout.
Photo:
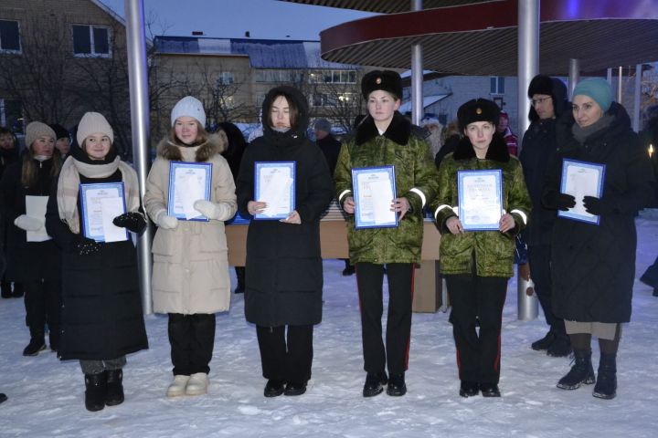
<svg viewBox="0 0 658 438"><path fill-rule="evenodd" d="M598 180L589 187L579 183L576 189L600 194L570 192L564 163L582 168L581 174L598 168ZM542 201L558 210L551 243L553 310L565 320L575 357L557 388L575 390L596 381L594 397L612 399L621 323L631 319L634 216L653 202L653 170L626 110L612 101L607 81L585 79L574 89L572 113L557 122L557 155L548 168ZM584 219L598 220L568 216L578 210ZM596 378L592 336L599 339L600 349Z"/></svg>

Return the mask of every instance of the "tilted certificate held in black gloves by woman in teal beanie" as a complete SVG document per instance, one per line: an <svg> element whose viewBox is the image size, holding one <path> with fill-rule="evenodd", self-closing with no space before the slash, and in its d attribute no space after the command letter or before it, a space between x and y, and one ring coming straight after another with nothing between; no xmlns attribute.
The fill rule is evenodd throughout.
<svg viewBox="0 0 658 438"><path fill-rule="evenodd" d="M589 214L585 210L583 197L594 196L600 198L603 194L604 180L605 164L564 159L562 161L560 192L570 194L576 198L576 205L566 212L558 210L557 215L575 221L599 224L600 216Z"/></svg>

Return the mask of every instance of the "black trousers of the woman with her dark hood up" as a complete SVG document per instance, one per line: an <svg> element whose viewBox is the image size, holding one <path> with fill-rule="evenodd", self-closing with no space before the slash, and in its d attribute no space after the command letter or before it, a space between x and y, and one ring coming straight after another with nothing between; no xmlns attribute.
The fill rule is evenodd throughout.
<svg viewBox="0 0 658 438"><path fill-rule="evenodd" d="M256 336L265 379L300 383L311 379L313 325L256 326Z"/></svg>

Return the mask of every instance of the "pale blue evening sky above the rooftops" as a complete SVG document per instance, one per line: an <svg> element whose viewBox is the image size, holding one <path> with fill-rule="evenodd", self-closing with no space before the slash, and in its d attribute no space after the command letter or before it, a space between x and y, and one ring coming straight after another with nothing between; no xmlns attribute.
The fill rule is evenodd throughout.
<svg viewBox="0 0 658 438"><path fill-rule="evenodd" d="M101 0L124 16L125 0ZM297 5L276 0L143 0L144 15L153 17L154 35L319 40L320 31L365 16L363 12Z"/></svg>

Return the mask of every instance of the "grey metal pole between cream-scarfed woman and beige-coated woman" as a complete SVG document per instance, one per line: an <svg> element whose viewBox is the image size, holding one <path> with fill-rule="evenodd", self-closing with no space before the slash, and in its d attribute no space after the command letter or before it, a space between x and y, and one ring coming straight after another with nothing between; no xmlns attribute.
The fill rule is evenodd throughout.
<svg viewBox="0 0 658 438"><path fill-rule="evenodd" d="M149 99L146 69L146 38L144 36L143 0L125 0L126 45L128 47L128 78L130 82L131 121L133 123L133 162L140 184L140 198L146 190L149 170ZM151 237L146 227L137 241L137 262L144 314L153 313L151 298Z"/></svg>

